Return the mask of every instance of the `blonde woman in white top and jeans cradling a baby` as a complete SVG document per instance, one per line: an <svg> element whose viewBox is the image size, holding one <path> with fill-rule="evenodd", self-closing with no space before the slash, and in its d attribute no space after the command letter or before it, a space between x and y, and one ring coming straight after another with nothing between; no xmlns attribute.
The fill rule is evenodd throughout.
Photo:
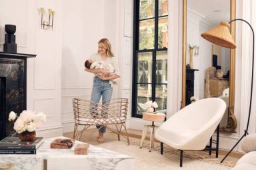
<svg viewBox="0 0 256 170"><path fill-rule="evenodd" d="M117 70L117 65L113 59L114 55L111 51L111 44L108 39L101 39L98 43L98 53L91 55L90 59L93 61L105 61L112 65L115 70ZM91 101L95 103L99 103L101 96L103 104L107 104L106 101L109 101L112 96L112 83L111 81L118 79L119 73L115 73L115 75L108 75L108 71L106 69L86 69L86 71L90 73L95 73L97 76L93 79L93 89L91 91ZM99 137L98 142L102 143L104 141L103 134L106 131L106 127L104 126L96 126L99 129Z"/></svg>

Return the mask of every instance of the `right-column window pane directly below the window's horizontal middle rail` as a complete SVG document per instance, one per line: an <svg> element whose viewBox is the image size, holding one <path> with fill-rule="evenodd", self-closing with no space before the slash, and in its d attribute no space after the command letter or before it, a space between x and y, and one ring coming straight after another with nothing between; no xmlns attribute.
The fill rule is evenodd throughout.
<svg viewBox="0 0 256 170"><path fill-rule="evenodd" d="M167 83L167 73L167 51L158 51L155 67L156 83ZM161 85L156 85L155 87L160 88Z"/></svg>

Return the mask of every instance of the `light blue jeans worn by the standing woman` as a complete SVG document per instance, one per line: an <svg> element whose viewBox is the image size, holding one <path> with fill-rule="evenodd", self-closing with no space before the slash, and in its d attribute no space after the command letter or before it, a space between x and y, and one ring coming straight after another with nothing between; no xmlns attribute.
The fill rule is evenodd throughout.
<svg viewBox="0 0 256 170"><path fill-rule="evenodd" d="M112 87L109 81L103 81L99 77L94 77L93 79L93 90L91 91L91 101L99 103L102 96L102 103L107 105L112 96ZM103 113L104 114L104 113ZM99 132L105 133L105 126L96 126Z"/></svg>

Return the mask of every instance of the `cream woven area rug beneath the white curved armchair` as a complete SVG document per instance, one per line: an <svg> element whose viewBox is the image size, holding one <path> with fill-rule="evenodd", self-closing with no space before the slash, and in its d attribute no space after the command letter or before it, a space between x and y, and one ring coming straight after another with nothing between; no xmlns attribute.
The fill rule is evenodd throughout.
<svg viewBox="0 0 256 170"><path fill-rule="evenodd" d="M111 141L109 143L102 143L97 146L117 151L125 155L134 157L136 170L161 170L161 169L181 169L179 167L179 151L170 147L164 146L163 155L160 154L159 143L155 143L152 152L149 152L149 142L145 141L143 148L139 148L139 139L131 137L131 145L127 145L125 139L121 141ZM215 155L209 156L207 153L194 154L193 151L184 151L183 153L183 167L184 170L227 170L232 169L233 162L225 162L219 164L219 159L215 159Z"/></svg>

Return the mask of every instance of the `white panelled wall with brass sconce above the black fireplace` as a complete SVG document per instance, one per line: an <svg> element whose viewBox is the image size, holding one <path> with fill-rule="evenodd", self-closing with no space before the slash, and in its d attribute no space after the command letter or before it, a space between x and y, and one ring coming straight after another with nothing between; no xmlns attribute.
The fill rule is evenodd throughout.
<svg viewBox="0 0 256 170"><path fill-rule="evenodd" d="M11 23L17 25L17 52L37 54L35 59L27 59L27 109L47 115L47 122L37 129L37 135L61 135L62 1L1 0L0 4L1 50L4 25ZM39 26L39 7L56 11L53 31Z"/></svg>

